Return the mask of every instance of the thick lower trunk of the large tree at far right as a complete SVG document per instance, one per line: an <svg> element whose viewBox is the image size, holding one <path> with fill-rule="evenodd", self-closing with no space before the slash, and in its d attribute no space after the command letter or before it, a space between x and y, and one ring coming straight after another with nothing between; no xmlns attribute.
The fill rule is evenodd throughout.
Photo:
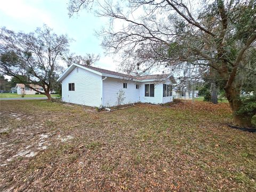
<svg viewBox="0 0 256 192"><path fill-rule="evenodd" d="M240 127L252 127L251 117L247 115L238 115L236 112L243 105L240 100L240 89L231 85L230 87L225 87L226 96L230 105L231 110L233 111L233 124Z"/></svg>

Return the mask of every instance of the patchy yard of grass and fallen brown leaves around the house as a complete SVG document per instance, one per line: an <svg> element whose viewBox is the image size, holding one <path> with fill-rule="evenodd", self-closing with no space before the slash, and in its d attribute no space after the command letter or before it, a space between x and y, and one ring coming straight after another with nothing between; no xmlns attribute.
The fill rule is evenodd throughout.
<svg viewBox="0 0 256 192"><path fill-rule="evenodd" d="M256 134L228 103L0 102L0 191L256 191Z"/></svg>

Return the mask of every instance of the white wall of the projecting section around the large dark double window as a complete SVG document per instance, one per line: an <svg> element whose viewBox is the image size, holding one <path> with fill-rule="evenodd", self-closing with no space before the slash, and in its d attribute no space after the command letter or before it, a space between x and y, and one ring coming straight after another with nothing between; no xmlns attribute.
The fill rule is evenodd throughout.
<svg viewBox="0 0 256 192"><path fill-rule="evenodd" d="M154 97L145 97L145 84L155 84ZM149 103L163 103L163 84L156 82L142 82L140 84L140 101Z"/></svg>

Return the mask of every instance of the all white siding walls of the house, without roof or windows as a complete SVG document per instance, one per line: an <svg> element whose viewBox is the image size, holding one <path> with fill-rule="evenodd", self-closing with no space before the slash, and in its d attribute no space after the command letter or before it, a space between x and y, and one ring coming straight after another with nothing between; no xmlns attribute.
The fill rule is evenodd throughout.
<svg viewBox="0 0 256 192"><path fill-rule="evenodd" d="M78 69L78 72L77 72ZM103 80L103 81L102 81ZM97 75L83 68L74 68L62 80L62 101L86 105L92 107L116 106L118 103L118 92L124 91L122 105L135 102L166 103L173 101L173 97L163 97L163 83L136 82ZM75 91L68 91L68 84L75 83ZM123 88L127 83L127 88ZM139 89L136 89L136 84ZM154 97L145 97L145 84L155 84ZM165 84L171 84L170 81Z"/></svg>

